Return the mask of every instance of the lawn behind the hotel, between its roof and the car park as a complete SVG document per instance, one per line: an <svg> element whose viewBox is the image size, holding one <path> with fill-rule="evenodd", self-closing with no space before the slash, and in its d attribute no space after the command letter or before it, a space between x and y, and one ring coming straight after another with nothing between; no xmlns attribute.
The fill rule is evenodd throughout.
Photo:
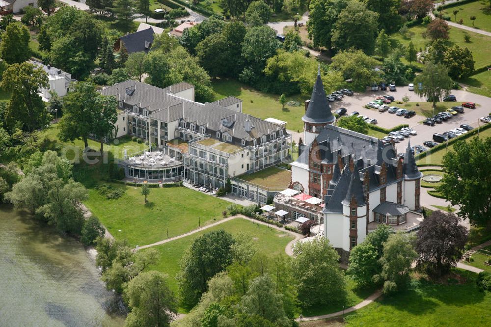
<svg viewBox="0 0 491 327"><path fill-rule="evenodd" d="M261 119L273 117L286 121L286 128L289 130L303 130L301 118L305 113L303 101L306 99L301 98L300 95L287 97L288 101L298 101L300 106L285 106L283 110L278 102L278 95L259 92L235 80L218 80L212 82L212 87L216 94L215 100L233 95L243 101L243 112Z"/></svg>

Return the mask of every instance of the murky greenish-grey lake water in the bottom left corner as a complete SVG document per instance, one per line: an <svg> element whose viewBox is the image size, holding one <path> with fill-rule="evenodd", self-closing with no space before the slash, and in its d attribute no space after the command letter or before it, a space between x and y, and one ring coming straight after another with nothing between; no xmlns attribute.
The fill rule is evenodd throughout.
<svg viewBox="0 0 491 327"><path fill-rule="evenodd" d="M0 205L0 326L121 326L123 312L79 242Z"/></svg>

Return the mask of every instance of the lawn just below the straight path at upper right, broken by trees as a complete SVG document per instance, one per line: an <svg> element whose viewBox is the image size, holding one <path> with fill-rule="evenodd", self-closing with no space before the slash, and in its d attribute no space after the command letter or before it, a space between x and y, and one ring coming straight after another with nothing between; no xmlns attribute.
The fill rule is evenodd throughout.
<svg viewBox="0 0 491 327"><path fill-rule="evenodd" d="M477 20L476 20L477 21ZM426 30L426 26L419 25L409 28L409 32L413 33L412 37L404 39L400 33L394 33L391 35L391 40L394 46L397 47L398 44L408 46L409 41L412 40L414 47L419 51L419 49L425 49L427 44L430 43L430 39L425 39L422 33ZM465 33L470 35L470 41L465 42ZM475 68L484 67L491 64L491 37L464 31L463 29L450 27L450 39L449 45L457 44L460 47L467 47L472 52L475 60Z"/></svg>

